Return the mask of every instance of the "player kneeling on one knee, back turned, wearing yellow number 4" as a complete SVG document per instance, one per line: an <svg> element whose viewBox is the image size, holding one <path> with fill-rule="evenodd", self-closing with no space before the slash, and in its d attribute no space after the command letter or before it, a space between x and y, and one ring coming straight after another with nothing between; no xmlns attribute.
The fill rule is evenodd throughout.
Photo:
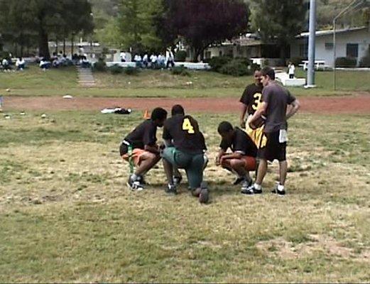
<svg viewBox="0 0 370 284"><path fill-rule="evenodd" d="M205 168L205 138L198 123L192 116L185 115L183 107L173 107L173 116L165 121L163 140L165 149L162 153L163 167L168 180L166 192L176 194L173 181L174 168L185 169L192 195L206 203L209 193L203 181Z"/></svg>

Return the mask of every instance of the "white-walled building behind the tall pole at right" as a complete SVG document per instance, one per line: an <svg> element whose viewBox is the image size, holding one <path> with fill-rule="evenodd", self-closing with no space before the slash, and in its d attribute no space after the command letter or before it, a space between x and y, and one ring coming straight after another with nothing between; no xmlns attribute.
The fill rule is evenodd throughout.
<svg viewBox="0 0 370 284"><path fill-rule="evenodd" d="M301 33L290 45L290 58L308 57L308 35ZM357 63L370 47L370 29L367 27L347 28L336 31L337 58L356 58ZM334 67L333 31L316 31L315 60L324 60L325 65Z"/></svg>

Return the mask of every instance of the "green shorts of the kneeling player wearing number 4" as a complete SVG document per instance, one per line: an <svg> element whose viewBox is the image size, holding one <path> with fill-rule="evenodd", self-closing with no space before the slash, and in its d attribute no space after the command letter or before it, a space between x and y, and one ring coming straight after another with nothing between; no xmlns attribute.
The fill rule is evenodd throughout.
<svg viewBox="0 0 370 284"><path fill-rule="evenodd" d="M175 147L166 147L163 150L162 158L178 168L185 169L190 188L200 187L205 164L203 154L189 154L177 150Z"/></svg>

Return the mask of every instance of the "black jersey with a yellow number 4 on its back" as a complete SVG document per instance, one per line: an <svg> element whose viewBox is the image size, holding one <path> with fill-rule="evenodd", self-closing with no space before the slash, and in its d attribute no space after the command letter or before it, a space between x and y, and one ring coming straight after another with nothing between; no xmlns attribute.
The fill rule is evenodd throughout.
<svg viewBox="0 0 370 284"><path fill-rule="evenodd" d="M163 139L171 140L176 149L185 153L199 154L207 150L205 137L192 116L175 115L165 121Z"/></svg>

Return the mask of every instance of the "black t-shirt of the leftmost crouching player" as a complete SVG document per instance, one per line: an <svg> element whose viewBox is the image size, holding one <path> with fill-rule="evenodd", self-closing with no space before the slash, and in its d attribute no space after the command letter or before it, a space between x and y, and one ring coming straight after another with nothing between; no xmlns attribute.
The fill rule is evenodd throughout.
<svg viewBox="0 0 370 284"><path fill-rule="evenodd" d="M129 142L132 148L143 149L146 145L154 146L157 141L157 126L150 119L143 121L124 140Z"/></svg>

